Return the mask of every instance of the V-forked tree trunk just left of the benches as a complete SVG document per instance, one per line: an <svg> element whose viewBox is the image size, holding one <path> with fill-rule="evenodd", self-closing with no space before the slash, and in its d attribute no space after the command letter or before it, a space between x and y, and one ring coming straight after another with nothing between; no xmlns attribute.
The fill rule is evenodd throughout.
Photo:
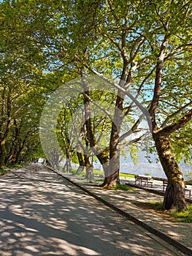
<svg viewBox="0 0 192 256"><path fill-rule="evenodd" d="M126 69L125 69L126 70ZM123 80L125 80L126 73L121 77L122 81L120 84L124 84ZM83 79L83 78L82 78ZM89 99L89 91L88 86L86 86L86 81L84 81L85 88L87 89L84 94L84 108L85 108L85 127L86 127L86 135L87 140L89 143L89 146L96 150L97 143L96 138L94 136L94 127L92 129L91 125L91 107L90 107L90 99ZM121 93L121 91L118 91L118 96L115 103L115 113L114 113L114 121L112 122L112 131L110 136L110 147L106 148L101 154L96 154L96 157L99 159L99 162L103 166L104 169L104 183L101 185L101 187L104 188L112 188L115 187L117 183L119 183L119 167L120 167L120 161L119 161L119 151L118 151L118 143L119 143L119 132L120 132L120 126L123 121L123 101L124 101L125 95ZM107 153L109 153L110 149L110 157L108 157ZM87 165L85 162L86 170ZM87 170L89 173L90 170ZM86 175L88 176L88 174Z"/></svg>

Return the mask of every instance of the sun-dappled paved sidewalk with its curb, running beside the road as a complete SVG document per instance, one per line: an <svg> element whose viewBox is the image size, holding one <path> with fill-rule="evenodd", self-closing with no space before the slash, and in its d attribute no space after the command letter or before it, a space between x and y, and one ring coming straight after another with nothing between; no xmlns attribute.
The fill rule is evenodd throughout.
<svg viewBox="0 0 192 256"><path fill-rule="evenodd" d="M155 195L144 189L104 190L96 186L96 183L89 183L88 181L82 181L80 178L59 174L82 187L107 206L114 208L115 211L176 246L181 252L192 255L192 223L171 222L139 208L138 203L162 201L164 198L162 195Z"/></svg>

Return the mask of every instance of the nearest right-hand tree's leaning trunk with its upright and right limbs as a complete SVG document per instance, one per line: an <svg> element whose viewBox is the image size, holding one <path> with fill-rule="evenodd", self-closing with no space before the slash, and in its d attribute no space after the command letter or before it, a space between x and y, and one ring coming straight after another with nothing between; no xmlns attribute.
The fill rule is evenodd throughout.
<svg viewBox="0 0 192 256"><path fill-rule="evenodd" d="M185 181L183 173L181 172L180 167L177 165L177 162L172 154L172 148L169 143L169 135L171 135L172 132L175 132L177 129L180 129L180 127L185 124L185 121L187 121L187 118L190 118L190 115L186 116L187 118L182 118L176 124L164 127L164 129L161 130L159 130L155 120L155 113L158 109L158 102L161 96L162 70L164 65L165 50L170 37L168 21L166 24L164 24L164 29L165 36L161 44L158 62L156 64L155 87L149 113L152 123L153 140L155 141L158 157L168 179L168 185L164 195L164 209L169 210L170 208L175 207L177 208L177 211L183 211L187 208L185 203Z"/></svg>

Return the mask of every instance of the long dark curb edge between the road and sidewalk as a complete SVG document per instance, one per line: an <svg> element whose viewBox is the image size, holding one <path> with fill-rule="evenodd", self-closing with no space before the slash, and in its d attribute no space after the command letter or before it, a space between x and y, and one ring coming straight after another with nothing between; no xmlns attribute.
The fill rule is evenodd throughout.
<svg viewBox="0 0 192 256"><path fill-rule="evenodd" d="M69 178L66 178L64 175L62 175L61 173L58 173L56 170L53 170L51 167L47 167L47 168L52 170L54 173L58 174L58 176L61 176L62 178L66 179L66 181L69 181L69 183L73 184L75 187L80 188L82 191L84 191L88 195L91 195L92 197L96 198L96 200L99 200L105 206L116 211L118 214L122 215L123 217L126 217L127 219L131 220L131 222L134 222L135 224L139 225L140 227L144 227L145 230L149 231L150 233L153 233L155 236L158 236L159 238L163 239L167 243L171 244L172 246L174 246L175 248L180 250L180 252L183 252L189 256L192 255L192 250L189 249L188 247L186 247L185 245L180 244L179 242L175 241L173 238L171 238L169 236L166 236L161 231L155 230L155 228L151 227L150 225L145 224L145 222L140 221L139 219L135 218L131 214L128 214L126 211L121 210L117 206L112 205L112 203L107 202L106 200L102 199L101 197L95 195L93 192L90 192L88 189L81 187L80 184L77 184L74 181L70 180Z"/></svg>

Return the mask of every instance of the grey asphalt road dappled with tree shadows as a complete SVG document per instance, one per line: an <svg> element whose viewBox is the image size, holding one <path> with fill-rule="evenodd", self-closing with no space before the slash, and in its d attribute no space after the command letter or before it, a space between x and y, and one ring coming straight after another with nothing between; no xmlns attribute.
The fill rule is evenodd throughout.
<svg viewBox="0 0 192 256"><path fill-rule="evenodd" d="M0 177L0 255L181 255L41 164Z"/></svg>

